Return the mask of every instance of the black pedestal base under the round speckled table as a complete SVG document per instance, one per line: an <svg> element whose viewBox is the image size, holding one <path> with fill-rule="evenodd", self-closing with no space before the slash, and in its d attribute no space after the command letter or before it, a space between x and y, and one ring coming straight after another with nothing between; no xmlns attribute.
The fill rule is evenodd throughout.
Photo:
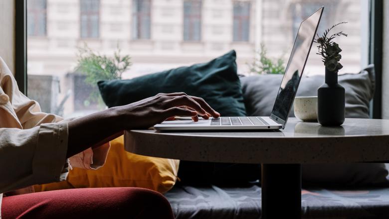
<svg viewBox="0 0 389 219"><path fill-rule="evenodd" d="M301 219L301 164L262 164L262 219Z"/></svg>

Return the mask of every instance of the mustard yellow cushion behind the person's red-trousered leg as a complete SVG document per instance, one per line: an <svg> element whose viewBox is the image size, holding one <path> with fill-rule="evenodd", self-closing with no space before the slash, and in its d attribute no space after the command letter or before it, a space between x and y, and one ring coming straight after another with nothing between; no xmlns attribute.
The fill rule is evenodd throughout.
<svg viewBox="0 0 389 219"><path fill-rule="evenodd" d="M141 187L160 193L176 183L179 160L147 157L124 150L123 135L111 141L104 166L98 170L73 168L65 182L37 185L35 191L68 188Z"/></svg>

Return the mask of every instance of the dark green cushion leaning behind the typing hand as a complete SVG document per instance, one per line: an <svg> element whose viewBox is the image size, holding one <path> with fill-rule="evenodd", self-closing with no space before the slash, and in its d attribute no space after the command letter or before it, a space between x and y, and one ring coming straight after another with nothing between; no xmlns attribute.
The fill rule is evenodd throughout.
<svg viewBox="0 0 389 219"><path fill-rule="evenodd" d="M207 63L150 74L131 80L100 81L108 107L122 106L158 93L185 92L203 98L222 116L245 116L234 50Z"/></svg>

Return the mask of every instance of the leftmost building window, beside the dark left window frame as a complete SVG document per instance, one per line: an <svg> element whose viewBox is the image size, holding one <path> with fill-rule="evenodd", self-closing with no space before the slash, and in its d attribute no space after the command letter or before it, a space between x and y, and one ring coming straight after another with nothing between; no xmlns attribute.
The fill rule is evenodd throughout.
<svg viewBox="0 0 389 219"><path fill-rule="evenodd" d="M28 0L27 34L28 36L46 35L46 0Z"/></svg>

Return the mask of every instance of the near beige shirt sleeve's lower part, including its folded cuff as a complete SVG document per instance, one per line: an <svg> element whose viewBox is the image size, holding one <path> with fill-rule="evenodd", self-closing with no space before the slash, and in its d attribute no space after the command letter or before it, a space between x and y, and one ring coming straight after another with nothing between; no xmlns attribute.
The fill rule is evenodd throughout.
<svg viewBox="0 0 389 219"><path fill-rule="evenodd" d="M66 179L67 139L66 122L0 128L0 193Z"/></svg>

